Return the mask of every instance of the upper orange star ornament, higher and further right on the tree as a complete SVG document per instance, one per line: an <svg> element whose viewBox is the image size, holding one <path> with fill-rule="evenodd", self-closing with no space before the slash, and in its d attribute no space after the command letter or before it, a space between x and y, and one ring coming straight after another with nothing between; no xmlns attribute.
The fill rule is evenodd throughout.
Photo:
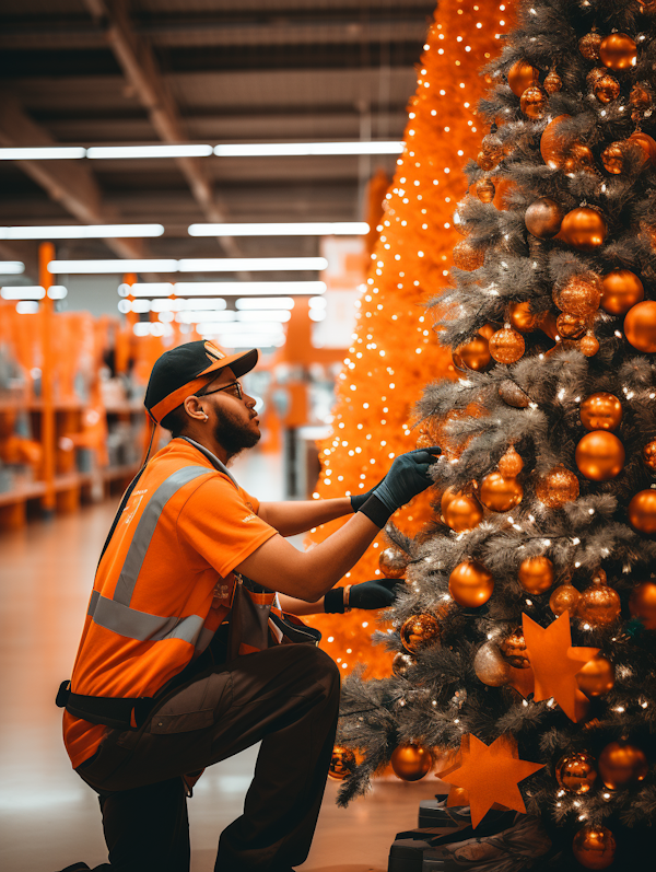
<svg viewBox="0 0 656 872"><path fill-rule="evenodd" d="M573 648L570 613L563 612L548 627L541 627L528 615L522 615L526 650L536 679L534 699L553 697L571 721L582 717L587 697L574 677L599 653L599 648ZM578 705L577 705L578 704Z"/></svg>

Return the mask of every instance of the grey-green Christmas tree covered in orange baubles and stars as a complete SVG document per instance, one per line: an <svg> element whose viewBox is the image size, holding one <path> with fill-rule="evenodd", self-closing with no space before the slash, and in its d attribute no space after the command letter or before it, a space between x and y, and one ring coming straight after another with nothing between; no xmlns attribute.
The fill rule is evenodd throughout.
<svg viewBox="0 0 656 872"><path fill-rule="evenodd" d="M460 377L419 403L453 450L432 532L389 530L394 673L343 687L341 802L390 759L435 768L473 826L527 813L504 870L653 864L654 36L654 2L535 0L489 68L435 301Z"/></svg>

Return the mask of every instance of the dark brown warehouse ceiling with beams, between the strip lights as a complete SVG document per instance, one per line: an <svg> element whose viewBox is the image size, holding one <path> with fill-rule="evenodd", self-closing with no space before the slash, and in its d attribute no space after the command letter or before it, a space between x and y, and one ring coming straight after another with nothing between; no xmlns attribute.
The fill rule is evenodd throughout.
<svg viewBox="0 0 656 872"><path fill-rule="evenodd" d="M400 139L434 5L3 0L0 146ZM165 226L156 240L59 242L63 258L314 255L316 237L191 239L187 226L361 220L368 177L394 162L0 161L0 224ZM35 243L0 243L0 256L28 269L34 253Z"/></svg>

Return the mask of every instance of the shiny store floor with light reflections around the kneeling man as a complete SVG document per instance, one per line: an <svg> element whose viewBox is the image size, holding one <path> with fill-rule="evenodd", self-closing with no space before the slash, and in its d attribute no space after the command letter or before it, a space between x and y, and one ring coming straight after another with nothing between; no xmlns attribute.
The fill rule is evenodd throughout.
<svg viewBox="0 0 656 872"><path fill-rule="evenodd" d="M235 466L262 499L281 493L277 457L253 455ZM78 860L106 861L97 800L70 768L54 697L71 672L89 592L115 501L0 533L0 869L55 872ZM242 810L257 748L211 767L189 802L191 870L211 872L219 834ZM429 782L430 779L430 782ZM380 872L395 833L417 826L429 776L408 784L376 783L348 810L328 782L317 835L303 872Z"/></svg>

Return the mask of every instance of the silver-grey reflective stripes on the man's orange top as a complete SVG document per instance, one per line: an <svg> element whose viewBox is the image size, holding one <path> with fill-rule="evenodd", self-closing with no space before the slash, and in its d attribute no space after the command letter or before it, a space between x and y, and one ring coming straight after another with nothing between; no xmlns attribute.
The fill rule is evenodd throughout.
<svg viewBox="0 0 656 872"><path fill-rule="evenodd" d="M210 473L212 470L207 466L185 466L168 476L155 490L137 524L114 596L103 596L96 590L91 594L86 614L95 624L128 639L153 642L161 639L184 639L189 644L196 644L204 624L199 615L187 615L184 618L151 615L131 608L130 601L164 507L181 487Z"/></svg>

